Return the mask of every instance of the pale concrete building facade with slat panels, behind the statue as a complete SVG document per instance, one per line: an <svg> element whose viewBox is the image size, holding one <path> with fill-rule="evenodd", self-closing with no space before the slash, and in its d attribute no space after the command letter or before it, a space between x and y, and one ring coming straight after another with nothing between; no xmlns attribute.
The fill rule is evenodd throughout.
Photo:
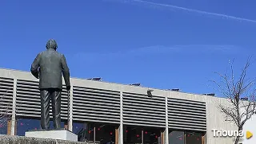
<svg viewBox="0 0 256 144"><path fill-rule="evenodd" d="M63 85L62 120L69 119L71 131L74 122L106 123L118 126L115 142L119 144L126 143L123 139L127 126L157 128L159 142L166 144L172 143L172 131L201 134L198 141L204 144L234 141L234 138L214 138L212 131L237 129L217 108L219 103L229 104L227 99L77 78L71 78L70 83L70 115L67 114L67 91ZM0 112L10 115L10 134L16 133L17 118L40 119L38 80L30 72L0 68L0 95ZM143 134L145 130L139 135L142 137L140 143L146 143ZM190 136L184 135L182 143Z"/></svg>

